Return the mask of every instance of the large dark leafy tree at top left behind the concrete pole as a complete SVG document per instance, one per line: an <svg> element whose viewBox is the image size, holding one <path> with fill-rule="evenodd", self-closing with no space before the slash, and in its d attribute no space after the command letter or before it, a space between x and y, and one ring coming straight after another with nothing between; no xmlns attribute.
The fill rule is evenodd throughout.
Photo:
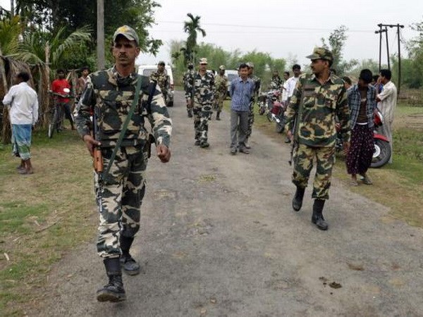
<svg viewBox="0 0 423 317"><path fill-rule="evenodd" d="M117 27L130 25L140 37L142 51L157 54L162 42L149 36L148 28L154 25L154 9L159 7L154 0L104 1L104 33L111 37ZM16 11L31 29L58 32L66 25L70 35L81 27L94 30L97 39L97 1L86 0L17 0ZM94 43L91 47L94 50Z"/></svg>

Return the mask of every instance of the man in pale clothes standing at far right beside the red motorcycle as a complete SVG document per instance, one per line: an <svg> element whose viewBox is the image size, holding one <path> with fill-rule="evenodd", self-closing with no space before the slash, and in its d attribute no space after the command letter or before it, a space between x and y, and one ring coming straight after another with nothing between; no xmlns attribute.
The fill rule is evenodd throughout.
<svg viewBox="0 0 423 317"><path fill-rule="evenodd" d="M384 89L376 96L376 101L379 102L379 110L384 116L384 131L391 145L391 158L389 159L389 163L392 163L392 123L397 101L397 89L393 82L391 82L391 77L391 70L381 69L379 73L379 82L384 85Z"/></svg>

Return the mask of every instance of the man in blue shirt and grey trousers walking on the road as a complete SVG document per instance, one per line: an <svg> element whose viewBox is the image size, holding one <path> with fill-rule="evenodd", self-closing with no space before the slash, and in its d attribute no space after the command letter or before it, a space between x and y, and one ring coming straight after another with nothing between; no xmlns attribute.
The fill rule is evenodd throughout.
<svg viewBox="0 0 423 317"><path fill-rule="evenodd" d="M250 102L254 96L255 83L248 77L250 67L243 63L240 65L239 77L231 82L231 154L235 155L238 149L241 153L249 154L245 147L248 130L248 114Z"/></svg>

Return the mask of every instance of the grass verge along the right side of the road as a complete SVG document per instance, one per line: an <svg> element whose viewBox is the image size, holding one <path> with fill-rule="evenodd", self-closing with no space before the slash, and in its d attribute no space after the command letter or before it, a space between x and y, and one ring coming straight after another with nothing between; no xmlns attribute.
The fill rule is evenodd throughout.
<svg viewBox="0 0 423 317"><path fill-rule="evenodd" d="M224 107L229 110L230 101ZM284 134L275 132L275 124L259 116L255 108L255 128L264 132L281 146ZM374 185L350 187L352 192L372 199L391 209L390 214L419 228L423 228L423 107L401 102L396 108L393 132L393 163L369 170ZM333 176L348 185L345 161L338 156Z"/></svg>

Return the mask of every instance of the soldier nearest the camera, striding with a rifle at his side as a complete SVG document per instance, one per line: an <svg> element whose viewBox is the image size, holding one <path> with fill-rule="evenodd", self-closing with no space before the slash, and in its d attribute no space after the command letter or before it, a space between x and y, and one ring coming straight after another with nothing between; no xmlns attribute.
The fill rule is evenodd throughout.
<svg viewBox="0 0 423 317"><path fill-rule="evenodd" d="M130 246L140 229L140 206L145 194L145 168L147 167L148 132L144 127L149 118L156 139L159 159L166 163L172 123L157 85L151 106L147 111L149 78L137 75L135 58L140 54L139 39L133 28L123 25L114 33L113 56L115 65L87 77L87 85L77 107L75 122L90 154L100 147L104 170L110 165L109 178L99 178L95 173L94 184L99 206L99 237L97 251L104 259L109 284L97 291L99 302L125 300L122 268L130 274L140 272L139 264L130 256ZM123 122L133 104L135 87L142 80L140 99L121 144L116 144ZM99 132L92 137L90 116L98 118ZM116 158L111 154L118 147ZM102 192L99 191L102 189ZM98 197L98 196L97 196Z"/></svg>

